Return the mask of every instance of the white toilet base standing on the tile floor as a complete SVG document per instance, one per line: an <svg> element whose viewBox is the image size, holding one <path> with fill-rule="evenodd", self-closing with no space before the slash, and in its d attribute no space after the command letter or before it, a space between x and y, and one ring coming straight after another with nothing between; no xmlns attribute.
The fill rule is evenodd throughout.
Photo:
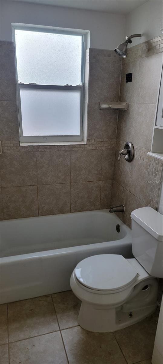
<svg viewBox="0 0 163 364"><path fill-rule="evenodd" d="M91 332L113 332L133 325L143 318L150 316L155 312L157 304L132 310L132 316L129 312L123 312L121 308L98 309L94 306L81 303L78 315L78 324L85 330Z"/></svg>

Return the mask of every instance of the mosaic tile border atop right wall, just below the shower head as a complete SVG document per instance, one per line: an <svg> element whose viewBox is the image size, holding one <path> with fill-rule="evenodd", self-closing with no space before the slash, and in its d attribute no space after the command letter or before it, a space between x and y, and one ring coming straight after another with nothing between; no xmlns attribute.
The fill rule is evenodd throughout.
<svg viewBox="0 0 163 364"><path fill-rule="evenodd" d="M163 35L129 48L127 57L123 59L123 62L128 63L160 52L163 52Z"/></svg>

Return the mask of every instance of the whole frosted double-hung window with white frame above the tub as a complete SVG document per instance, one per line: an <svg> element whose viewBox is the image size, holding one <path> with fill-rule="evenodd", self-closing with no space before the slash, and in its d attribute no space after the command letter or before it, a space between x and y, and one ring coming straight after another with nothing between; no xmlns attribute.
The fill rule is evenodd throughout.
<svg viewBox="0 0 163 364"><path fill-rule="evenodd" d="M82 141L84 35L13 26L20 142Z"/></svg>

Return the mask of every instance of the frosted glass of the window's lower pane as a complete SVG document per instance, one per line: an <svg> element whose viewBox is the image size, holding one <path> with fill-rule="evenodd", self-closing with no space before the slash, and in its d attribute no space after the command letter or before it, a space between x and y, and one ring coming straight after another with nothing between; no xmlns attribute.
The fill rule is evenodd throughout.
<svg viewBox="0 0 163 364"><path fill-rule="evenodd" d="M23 136L80 135L80 90L20 89Z"/></svg>

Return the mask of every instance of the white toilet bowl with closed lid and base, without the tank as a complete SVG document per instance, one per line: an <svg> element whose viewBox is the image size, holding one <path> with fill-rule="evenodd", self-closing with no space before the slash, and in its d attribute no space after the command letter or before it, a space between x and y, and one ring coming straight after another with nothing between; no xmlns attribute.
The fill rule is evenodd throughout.
<svg viewBox="0 0 163 364"><path fill-rule="evenodd" d="M158 282L134 258L116 254L86 258L74 269L70 286L82 301L78 324L92 332L119 330L157 307Z"/></svg>

